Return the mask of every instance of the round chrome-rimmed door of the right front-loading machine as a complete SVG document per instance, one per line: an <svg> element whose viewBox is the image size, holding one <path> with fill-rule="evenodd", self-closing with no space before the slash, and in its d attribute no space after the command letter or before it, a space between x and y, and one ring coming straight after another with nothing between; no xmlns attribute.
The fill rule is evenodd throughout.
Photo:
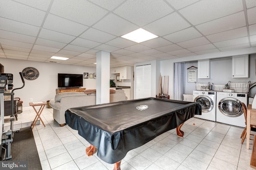
<svg viewBox="0 0 256 170"><path fill-rule="evenodd" d="M218 107L220 112L228 117L238 117L244 113L242 102L235 98L224 98L220 100Z"/></svg>

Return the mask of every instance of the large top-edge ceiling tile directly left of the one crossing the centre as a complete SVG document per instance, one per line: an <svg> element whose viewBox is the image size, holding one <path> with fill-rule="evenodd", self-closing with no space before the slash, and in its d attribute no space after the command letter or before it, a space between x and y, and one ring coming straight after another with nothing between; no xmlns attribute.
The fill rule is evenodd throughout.
<svg viewBox="0 0 256 170"><path fill-rule="evenodd" d="M54 0L50 13L91 26L105 16L108 11L86 0Z"/></svg>

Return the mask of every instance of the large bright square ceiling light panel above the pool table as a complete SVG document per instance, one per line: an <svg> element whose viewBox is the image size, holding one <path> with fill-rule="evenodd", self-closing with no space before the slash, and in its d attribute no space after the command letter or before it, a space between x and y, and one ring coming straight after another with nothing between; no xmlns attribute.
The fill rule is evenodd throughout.
<svg viewBox="0 0 256 170"><path fill-rule="evenodd" d="M135 41L136 43L141 43L143 41L147 41L147 40L156 38L158 36L148 32L142 28L139 28L139 29L136 29L135 31L132 31L132 32L126 34L126 35L123 35L122 37L129 39L131 41Z"/></svg>

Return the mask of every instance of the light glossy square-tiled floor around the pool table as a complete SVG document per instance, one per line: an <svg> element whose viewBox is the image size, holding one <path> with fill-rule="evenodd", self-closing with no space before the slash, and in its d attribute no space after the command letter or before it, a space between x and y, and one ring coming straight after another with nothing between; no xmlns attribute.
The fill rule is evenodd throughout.
<svg viewBox="0 0 256 170"><path fill-rule="evenodd" d="M18 120L34 119L32 107L23 109ZM33 129L43 170L112 170L96 154L87 156L90 144L68 125L60 127L52 118L52 109L42 112L42 124ZM193 125L195 123L195 125ZM14 123L15 124L15 123ZM24 127L21 125L21 127ZM121 162L122 170L250 170L250 149L241 144L241 127L191 118L181 128L168 131L142 147L130 150Z"/></svg>

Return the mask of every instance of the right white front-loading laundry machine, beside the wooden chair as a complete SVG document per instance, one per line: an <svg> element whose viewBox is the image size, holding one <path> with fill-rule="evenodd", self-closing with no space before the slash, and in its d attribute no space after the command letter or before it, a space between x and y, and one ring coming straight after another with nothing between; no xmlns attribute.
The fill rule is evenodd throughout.
<svg viewBox="0 0 256 170"><path fill-rule="evenodd" d="M247 106L247 93L217 92L216 121L245 127L242 102Z"/></svg>

